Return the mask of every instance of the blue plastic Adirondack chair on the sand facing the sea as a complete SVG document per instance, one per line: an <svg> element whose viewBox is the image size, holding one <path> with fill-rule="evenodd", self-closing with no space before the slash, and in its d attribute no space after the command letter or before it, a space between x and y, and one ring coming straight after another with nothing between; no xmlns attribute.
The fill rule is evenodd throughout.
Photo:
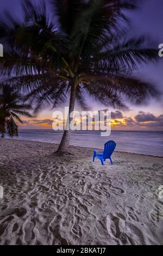
<svg viewBox="0 0 163 256"><path fill-rule="evenodd" d="M110 159L110 162L112 164L111 155L114 152L115 148L116 143L114 141L106 142L104 146L104 151L93 151L93 162L95 161L95 157L97 157L101 161L102 165L104 165L106 159Z"/></svg>

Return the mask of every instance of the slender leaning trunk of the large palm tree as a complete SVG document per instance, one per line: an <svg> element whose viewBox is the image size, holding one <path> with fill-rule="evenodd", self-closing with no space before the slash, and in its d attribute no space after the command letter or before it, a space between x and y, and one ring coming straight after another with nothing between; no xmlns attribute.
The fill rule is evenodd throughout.
<svg viewBox="0 0 163 256"><path fill-rule="evenodd" d="M70 113L74 111L74 104L76 100L76 90L77 90L77 81L74 78L71 81L71 94L70 94L70 104L69 104L69 115L67 121L69 121L70 124ZM59 148L57 150L57 153L59 154L68 154L68 147L69 147L69 142L70 142L70 130L65 130L64 134L62 136Z"/></svg>

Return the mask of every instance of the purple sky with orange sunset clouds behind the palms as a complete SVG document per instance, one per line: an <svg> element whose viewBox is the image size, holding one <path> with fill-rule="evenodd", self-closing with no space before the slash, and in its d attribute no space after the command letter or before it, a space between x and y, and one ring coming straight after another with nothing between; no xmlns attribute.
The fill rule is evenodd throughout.
<svg viewBox="0 0 163 256"><path fill-rule="evenodd" d="M22 0L23 1L23 0ZM39 0L35 0L39 1ZM131 18L131 33L136 35L146 34L156 41L156 45L163 44L163 1L162 0L141 0L139 10L129 13ZM0 0L0 15L4 10L21 16L21 0ZM0 42L1 43L1 42ZM159 51L159 50L158 50ZM163 93L163 58L155 64L143 66L136 75L143 80L150 81ZM114 130L158 130L163 131L163 97L160 100L149 100L146 105L134 106L128 104L129 110L126 112L110 109L112 111L111 121ZM105 109L106 106L89 98L87 99L92 111ZM61 105L57 110L64 110L68 106L68 99L65 105ZM78 108L78 106L76 106ZM47 108L36 118L24 119L21 129L52 129L52 114L55 109Z"/></svg>

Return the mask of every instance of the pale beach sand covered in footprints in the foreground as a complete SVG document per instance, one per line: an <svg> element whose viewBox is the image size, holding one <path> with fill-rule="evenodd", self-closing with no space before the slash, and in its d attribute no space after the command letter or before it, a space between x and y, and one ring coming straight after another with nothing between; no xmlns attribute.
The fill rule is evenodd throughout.
<svg viewBox="0 0 163 256"><path fill-rule="evenodd" d="M163 159L116 152L102 166L56 147L0 139L1 245L163 244Z"/></svg>

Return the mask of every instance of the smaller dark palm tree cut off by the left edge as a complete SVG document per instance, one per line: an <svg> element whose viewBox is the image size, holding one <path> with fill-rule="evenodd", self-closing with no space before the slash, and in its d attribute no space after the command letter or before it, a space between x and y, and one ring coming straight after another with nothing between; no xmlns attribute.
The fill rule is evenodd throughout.
<svg viewBox="0 0 163 256"><path fill-rule="evenodd" d="M0 134L4 138L5 133L10 137L18 136L16 121L23 123L20 115L32 117L27 110L30 105L22 103L22 95L15 87L9 84L0 83Z"/></svg>

